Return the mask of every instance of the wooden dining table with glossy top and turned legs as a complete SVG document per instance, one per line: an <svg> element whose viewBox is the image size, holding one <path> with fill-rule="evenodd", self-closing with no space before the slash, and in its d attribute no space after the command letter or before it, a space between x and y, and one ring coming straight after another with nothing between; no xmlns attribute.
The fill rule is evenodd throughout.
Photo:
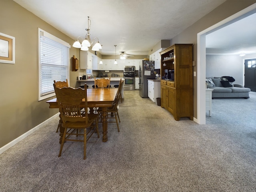
<svg viewBox="0 0 256 192"><path fill-rule="evenodd" d="M102 88L102 89L87 89L87 102L90 112L93 112L93 108L102 108L102 141L106 142L108 140L108 107L114 104L116 94L118 89L115 88ZM59 108L57 99L51 99L46 101L50 106L49 108ZM62 128L62 120L60 117L59 128L60 128L60 143L62 140L64 128Z"/></svg>

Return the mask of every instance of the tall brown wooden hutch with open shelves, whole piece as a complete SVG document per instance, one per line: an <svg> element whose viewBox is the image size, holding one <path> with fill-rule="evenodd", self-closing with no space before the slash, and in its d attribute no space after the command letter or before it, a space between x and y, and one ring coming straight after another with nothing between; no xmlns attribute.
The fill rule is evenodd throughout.
<svg viewBox="0 0 256 192"><path fill-rule="evenodd" d="M175 120L180 120L180 117L193 120L192 44L174 44L160 54L161 77L166 70L169 73L161 80L161 106Z"/></svg>

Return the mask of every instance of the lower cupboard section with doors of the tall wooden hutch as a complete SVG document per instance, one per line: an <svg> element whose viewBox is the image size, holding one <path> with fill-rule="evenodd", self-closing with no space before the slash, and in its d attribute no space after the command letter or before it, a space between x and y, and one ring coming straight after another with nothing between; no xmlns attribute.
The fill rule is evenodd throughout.
<svg viewBox="0 0 256 192"><path fill-rule="evenodd" d="M193 120L193 90L161 84L161 107L168 110L176 121L181 117Z"/></svg>

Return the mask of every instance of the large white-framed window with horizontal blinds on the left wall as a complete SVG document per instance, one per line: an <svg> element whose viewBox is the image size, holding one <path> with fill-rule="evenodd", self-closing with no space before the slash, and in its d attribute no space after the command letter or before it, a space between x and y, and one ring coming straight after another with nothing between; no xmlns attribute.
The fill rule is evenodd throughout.
<svg viewBox="0 0 256 192"><path fill-rule="evenodd" d="M53 80L69 81L70 44L38 29L39 36L39 96L43 100L55 95Z"/></svg>

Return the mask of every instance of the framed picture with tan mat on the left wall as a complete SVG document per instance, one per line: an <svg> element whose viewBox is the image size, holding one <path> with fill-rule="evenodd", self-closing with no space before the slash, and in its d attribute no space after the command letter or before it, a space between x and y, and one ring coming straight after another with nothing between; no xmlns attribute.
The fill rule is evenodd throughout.
<svg viewBox="0 0 256 192"><path fill-rule="evenodd" d="M15 63L15 37L0 33L0 63Z"/></svg>

